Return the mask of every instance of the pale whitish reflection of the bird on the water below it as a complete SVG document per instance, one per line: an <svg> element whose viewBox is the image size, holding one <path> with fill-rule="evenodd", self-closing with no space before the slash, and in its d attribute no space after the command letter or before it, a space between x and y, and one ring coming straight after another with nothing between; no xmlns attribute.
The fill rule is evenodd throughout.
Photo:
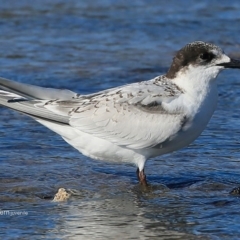
<svg viewBox="0 0 240 240"><path fill-rule="evenodd" d="M88 239L197 239L196 236L185 234L181 230L168 229L171 221L178 221L177 210L164 222L146 214L144 204L136 198L140 195L141 191L138 194L136 191L128 191L113 196L98 192L87 200L75 198L68 207L64 207L56 228L65 229L64 236L71 239L81 239L81 236ZM157 213L161 214L161 211L164 214L165 209L158 209ZM187 223L182 219L181 224Z"/></svg>

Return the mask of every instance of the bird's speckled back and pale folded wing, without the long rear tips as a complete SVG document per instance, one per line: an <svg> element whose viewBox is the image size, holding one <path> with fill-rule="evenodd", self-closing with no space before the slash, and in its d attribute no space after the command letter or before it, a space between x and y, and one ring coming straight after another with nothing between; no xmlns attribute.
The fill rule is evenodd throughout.
<svg viewBox="0 0 240 240"><path fill-rule="evenodd" d="M133 84L86 97L75 106L71 101L56 101L45 107L68 114L69 124L85 133L128 148L149 148L173 137L185 119L183 111L170 112L162 105L180 93L159 90L156 86Z"/></svg>

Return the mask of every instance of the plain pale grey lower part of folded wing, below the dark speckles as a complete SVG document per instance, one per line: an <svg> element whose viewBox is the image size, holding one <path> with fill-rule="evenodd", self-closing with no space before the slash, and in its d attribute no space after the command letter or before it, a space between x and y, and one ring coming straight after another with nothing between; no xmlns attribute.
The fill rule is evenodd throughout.
<svg viewBox="0 0 240 240"><path fill-rule="evenodd" d="M156 146L174 136L182 127L183 114L144 111L126 104L75 112L70 125L117 145L140 149Z"/></svg>

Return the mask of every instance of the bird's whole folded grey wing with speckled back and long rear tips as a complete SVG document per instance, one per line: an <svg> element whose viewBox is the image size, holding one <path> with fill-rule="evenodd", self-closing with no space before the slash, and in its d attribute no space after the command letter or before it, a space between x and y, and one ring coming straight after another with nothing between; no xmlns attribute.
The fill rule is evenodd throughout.
<svg viewBox="0 0 240 240"><path fill-rule="evenodd" d="M140 149L158 145L182 127L183 111L170 112L181 92L154 80L79 96L68 90L47 89L0 79L0 104L36 119L68 124L117 145ZM51 99L51 100L49 100Z"/></svg>

